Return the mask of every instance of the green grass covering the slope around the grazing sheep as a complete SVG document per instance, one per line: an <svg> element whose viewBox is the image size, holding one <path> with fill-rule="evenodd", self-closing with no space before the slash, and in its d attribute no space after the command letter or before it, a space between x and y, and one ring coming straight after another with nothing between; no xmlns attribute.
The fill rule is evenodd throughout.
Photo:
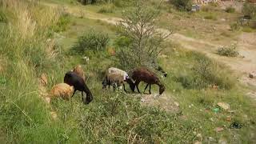
<svg viewBox="0 0 256 144"><path fill-rule="evenodd" d="M22 11L28 10L26 12L31 15L32 22L26 25L30 29L24 29L26 22L22 19L26 18L10 19L12 23L9 25L0 25L0 58L7 62L6 66L0 63L0 66L5 66L3 71L0 70L0 142L190 143L200 141L198 134L202 134L203 143L209 137L216 142L220 138L228 143L255 141L252 135L256 131L255 102L245 96L246 88L236 82L236 75L226 66L214 62L210 65L212 73L195 74L198 59L209 59L202 54L183 50L179 45L166 43L166 50L162 54L166 54L167 58L158 59L168 72L168 77L162 78L166 86L164 94L174 98L180 110L176 114L155 106L142 106L134 94L102 91L105 70L109 66L118 66L115 58L105 50L94 54L69 54L77 38L90 28L109 34L109 45L112 46L117 37L114 26L70 16L70 25L66 30L54 34L50 27L58 25L60 18L58 13L50 17L56 14L54 10L30 6L26 2L10 6L18 7L5 7L2 9L4 14L12 13L17 18ZM15 10L20 11L16 13ZM34 14L33 11L38 13ZM50 18L51 21L41 21ZM33 21L39 22L35 25L37 29L33 29ZM56 40L57 44L52 46L47 43L49 38ZM83 56L89 56L90 62L83 62ZM90 105L83 105L81 94L77 93L70 102L62 99L55 99L50 105L43 102L38 94L38 75L42 72L47 74L49 84L46 89L50 90L54 84L63 81L66 71L78 64L82 64L86 75L89 75L86 84L94 94L94 101ZM219 89L208 86L188 88L175 80L181 75L192 79L204 76L202 82L217 83ZM142 84L140 90L144 86ZM157 92L158 87L153 86L153 93ZM234 113L224 110L215 113L213 110L218 102L229 103ZM56 120L51 118L51 111L57 113ZM231 117L230 122L226 120L227 116ZM230 129L232 122L241 122L242 129ZM214 129L220 126L224 130L215 132Z"/></svg>

